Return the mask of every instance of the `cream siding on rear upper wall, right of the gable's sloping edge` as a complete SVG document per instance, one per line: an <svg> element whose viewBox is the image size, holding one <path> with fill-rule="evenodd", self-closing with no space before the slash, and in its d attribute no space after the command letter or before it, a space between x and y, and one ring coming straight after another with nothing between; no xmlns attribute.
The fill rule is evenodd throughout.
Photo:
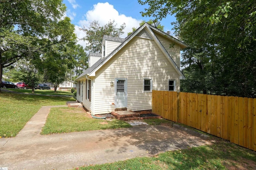
<svg viewBox="0 0 256 170"><path fill-rule="evenodd" d="M172 57L173 61L180 68L180 45L175 44L174 41L170 41L166 37L160 35L159 33L154 32L158 40L166 49L167 53ZM174 44L173 44L174 43ZM172 45L174 45L172 47ZM170 47L171 46L171 47Z"/></svg>

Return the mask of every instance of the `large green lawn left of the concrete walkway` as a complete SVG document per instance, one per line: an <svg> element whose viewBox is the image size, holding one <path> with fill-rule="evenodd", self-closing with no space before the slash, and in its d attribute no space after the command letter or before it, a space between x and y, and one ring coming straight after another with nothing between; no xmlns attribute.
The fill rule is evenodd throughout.
<svg viewBox="0 0 256 170"><path fill-rule="evenodd" d="M19 89L20 90L20 89ZM0 93L0 137L15 137L42 106L66 105L72 97Z"/></svg>

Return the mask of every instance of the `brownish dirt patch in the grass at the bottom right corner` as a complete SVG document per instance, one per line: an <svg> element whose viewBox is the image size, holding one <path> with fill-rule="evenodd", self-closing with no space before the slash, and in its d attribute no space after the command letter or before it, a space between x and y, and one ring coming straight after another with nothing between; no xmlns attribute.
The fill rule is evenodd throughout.
<svg viewBox="0 0 256 170"><path fill-rule="evenodd" d="M255 170L256 162L241 158L240 160L224 160L223 165L228 170Z"/></svg>

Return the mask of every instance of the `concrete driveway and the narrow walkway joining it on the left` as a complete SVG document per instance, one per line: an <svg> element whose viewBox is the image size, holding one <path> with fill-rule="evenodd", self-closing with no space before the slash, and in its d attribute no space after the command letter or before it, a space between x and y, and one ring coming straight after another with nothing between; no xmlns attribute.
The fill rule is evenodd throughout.
<svg viewBox="0 0 256 170"><path fill-rule="evenodd" d="M0 168L66 170L209 144L171 127L150 125L40 135L51 107L60 106L42 107L16 137L0 139Z"/></svg>

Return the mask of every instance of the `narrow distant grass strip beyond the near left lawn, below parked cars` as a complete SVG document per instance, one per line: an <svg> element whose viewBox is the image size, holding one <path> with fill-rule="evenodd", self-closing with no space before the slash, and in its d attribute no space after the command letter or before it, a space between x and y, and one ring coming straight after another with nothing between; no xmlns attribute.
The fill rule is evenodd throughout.
<svg viewBox="0 0 256 170"><path fill-rule="evenodd" d="M21 93L32 93L32 89L15 89L15 88L7 88L6 90L11 90L14 92L21 92ZM40 90L36 89L34 94L45 94L45 95L70 95L72 96L73 94L70 91L62 91L62 90L57 90L56 93L54 90Z"/></svg>

